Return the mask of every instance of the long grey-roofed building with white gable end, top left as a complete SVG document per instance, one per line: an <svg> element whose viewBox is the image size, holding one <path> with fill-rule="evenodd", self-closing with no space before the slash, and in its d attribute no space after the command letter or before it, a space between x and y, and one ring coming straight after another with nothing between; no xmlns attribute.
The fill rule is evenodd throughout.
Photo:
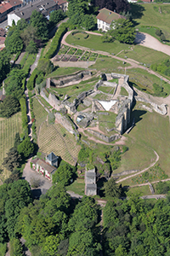
<svg viewBox="0 0 170 256"><path fill-rule="evenodd" d="M44 17L48 17L55 9L59 9L59 6L53 0L42 0L26 4L20 9L14 10L12 13L8 14L8 26L12 26L13 20L15 24L17 24L18 20L21 18L29 21L35 9L41 12Z"/></svg>

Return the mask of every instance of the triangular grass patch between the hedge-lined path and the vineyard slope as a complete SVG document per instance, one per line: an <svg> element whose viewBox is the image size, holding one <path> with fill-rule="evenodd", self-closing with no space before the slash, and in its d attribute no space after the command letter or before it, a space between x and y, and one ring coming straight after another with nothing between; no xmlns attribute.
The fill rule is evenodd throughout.
<svg viewBox="0 0 170 256"><path fill-rule="evenodd" d="M43 121L47 119L47 111L42 107L42 105L37 101L36 98L33 98L33 112L35 114L36 119L36 127L37 127L37 137L40 125Z"/></svg>

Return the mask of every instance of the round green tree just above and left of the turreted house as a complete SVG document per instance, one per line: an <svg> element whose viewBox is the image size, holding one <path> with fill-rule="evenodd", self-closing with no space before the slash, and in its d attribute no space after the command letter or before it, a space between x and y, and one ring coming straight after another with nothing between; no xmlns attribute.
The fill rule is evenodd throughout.
<svg viewBox="0 0 170 256"><path fill-rule="evenodd" d="M29 155L31 155L34 152L34 144L31 143L31 140L29 137L26 137L26 139L22 143L20 143L17 149L19 154L27 158Z"/></svg>

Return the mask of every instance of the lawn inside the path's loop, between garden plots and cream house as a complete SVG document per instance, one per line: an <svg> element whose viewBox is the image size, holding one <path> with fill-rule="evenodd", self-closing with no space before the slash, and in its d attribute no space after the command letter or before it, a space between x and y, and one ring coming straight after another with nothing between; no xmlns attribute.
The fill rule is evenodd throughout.
<svg viewBox="0 0 170 256"><path fill-rule="evenodd" d="M105 51L105 49L107 49L107 52L114 54L117 54L122 49L128 49L129 47L128 44L121 44L117 41L115 41L114 43L102 43L100 36L95 36L91 34L89 34L88 38L86 39L84 39L84 37L77 39L70 34L66 38L66 43L87 47L93 50Z"/></svg>

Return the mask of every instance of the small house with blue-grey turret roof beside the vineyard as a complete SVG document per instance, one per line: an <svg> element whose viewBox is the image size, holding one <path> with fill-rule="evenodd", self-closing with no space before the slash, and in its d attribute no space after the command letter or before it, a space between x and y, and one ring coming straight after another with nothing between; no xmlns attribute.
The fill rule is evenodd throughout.
<svg viewBox="0 0 170 256"><path fill-rule="evenodd" d="M54 172L57 170L59 157L56 156L53 152L46 156L46 160L41 160L36 158L31 160L31 168L39 173L41 173L44 177L47 177L49 180L52 180L52 176ZM49 163L54 164L51 165Z"/></svg>

